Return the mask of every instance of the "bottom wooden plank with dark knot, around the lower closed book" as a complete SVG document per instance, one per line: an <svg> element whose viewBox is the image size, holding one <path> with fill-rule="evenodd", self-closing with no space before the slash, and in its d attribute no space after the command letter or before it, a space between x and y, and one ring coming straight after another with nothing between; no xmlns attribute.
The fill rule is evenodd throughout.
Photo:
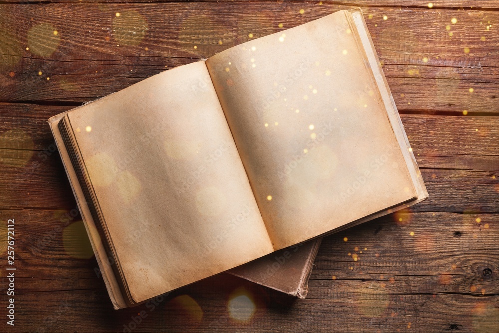
<svg viewBox="0 0 499 333"><path fill-rule="evenodd" d="M17 224L16 309L23 331L123 331L142 311L147 316L137 331L498 329L498 214L398 214L328 236L305 300L218 275L158 299L153 310L149 304L114 311L95 259L81 256L88 243L75 242L78 228L67 232L79 217L68 222L63 213L70 214L0 211L0 220ZM36 250L37 239L51 232L52 242ZM241 295L240 303L230 302Z"/></svg>

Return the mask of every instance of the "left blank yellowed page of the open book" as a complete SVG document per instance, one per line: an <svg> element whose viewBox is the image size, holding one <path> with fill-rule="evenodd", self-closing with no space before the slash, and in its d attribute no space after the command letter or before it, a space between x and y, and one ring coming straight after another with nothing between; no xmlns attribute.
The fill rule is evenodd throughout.
<svg viewBox="0 0 499 333"><path fill-rule="evenodd" d="M134 302L273 251L204 62L68 118Z"/></svg>

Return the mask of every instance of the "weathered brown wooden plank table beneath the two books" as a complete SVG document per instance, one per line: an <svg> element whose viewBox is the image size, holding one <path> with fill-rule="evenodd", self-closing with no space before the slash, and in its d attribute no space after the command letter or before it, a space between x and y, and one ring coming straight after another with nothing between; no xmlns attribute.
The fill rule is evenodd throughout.
<svg viewBox="0 0 499 333"><path fill-rule="evenodd" d="M327 237L305 300L219 275L156 305L113 310L46 120L353 6L364 11L429 199ZM498 8L479 0L2 1L0 331L499 331ZM8 219L14 327L5 316Z"/></svg>

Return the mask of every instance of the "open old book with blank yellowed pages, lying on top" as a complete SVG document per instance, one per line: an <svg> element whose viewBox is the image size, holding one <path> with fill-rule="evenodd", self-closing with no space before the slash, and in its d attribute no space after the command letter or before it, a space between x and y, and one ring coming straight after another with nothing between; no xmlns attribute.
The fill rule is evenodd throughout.
<svg viewBox="0 0 499 333"><path fill-rule="evenodd" d="M49 122L115 308L428 196L360 10Z"/></svg>

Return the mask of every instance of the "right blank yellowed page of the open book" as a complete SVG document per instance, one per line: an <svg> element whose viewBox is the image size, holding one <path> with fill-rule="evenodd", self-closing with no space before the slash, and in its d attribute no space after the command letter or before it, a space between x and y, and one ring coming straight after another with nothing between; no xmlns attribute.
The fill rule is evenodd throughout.
<svg viewBox="0 0 499 333"><path fill-rule="evenodd" d="M206 61L275 249L416 197L351 14Z"/></svg>

